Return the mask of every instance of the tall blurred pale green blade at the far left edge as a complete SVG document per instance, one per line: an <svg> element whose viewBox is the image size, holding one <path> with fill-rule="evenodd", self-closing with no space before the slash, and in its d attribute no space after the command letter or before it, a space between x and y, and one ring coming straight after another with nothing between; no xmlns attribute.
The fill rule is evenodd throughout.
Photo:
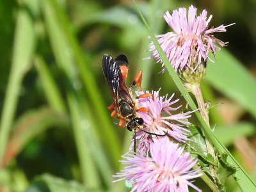
<svg viewBox="0 0 256 192"><path fill-rule="evenodd" d="M0 124L0 161L3 159L13 118L19 99L20 86L26 72L31 67L31 57L35 51L35 31L33 27L33 14L37 1L26 1L17 12L17 23L13 45L12 66L9 75L6 95ZM27 7L26 7L27 6ZM24 46L26 45L26 48Z"/></svg>

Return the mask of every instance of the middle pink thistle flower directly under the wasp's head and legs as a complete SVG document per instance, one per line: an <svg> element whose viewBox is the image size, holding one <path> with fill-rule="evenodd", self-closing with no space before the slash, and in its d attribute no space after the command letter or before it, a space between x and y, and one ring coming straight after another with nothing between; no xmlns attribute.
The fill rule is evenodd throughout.
<svg viewBox="0 0 256 192"><path fill-rule="evenodd" d="M154 100L151 97L141 98L138 100L140 107L148 109L148 112L138 112L140 117L144 120L145 128L143 130L150 133L156 133L158 135L164 135L167 133L167 135L172 137L174 140L186 143L186 140L189 140L187 137L189 130L186 129L186 127L191 123L185 119L191 117L191 112L172 114L172 111L175 111L182 106L180 105L177 108L171 107L171 105L177 103L179 99L171 101L174 94L172 94L170 98L168 98L168 95L165 97L159 97L159 91L152 92L154 94ZM138 95L143 93L143 91L137 92ZM139 140L138 151L141 152L141 154L148 154L150 143L164 138L165 137L158 137L143 131L138 131L136 133L136 139ZM134 147L133 141L131 142L131 150L132 147Z"/></svg>

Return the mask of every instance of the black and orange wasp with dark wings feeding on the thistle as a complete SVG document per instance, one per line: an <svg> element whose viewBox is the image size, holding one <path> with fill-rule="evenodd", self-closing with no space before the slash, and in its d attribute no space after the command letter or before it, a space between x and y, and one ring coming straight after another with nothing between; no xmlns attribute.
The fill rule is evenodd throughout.
<svg viewBox="0 0 256 192"><path fill-rule="evenodd" d="M118 55L113 59L110 55L104 54L102 57L102 70L114 101L108 109L113 110L111 117L120 119L119 126L123 128L126 127L129 131L134 131L134 134L141 130L150 135L165 136L143 130L144 121L140 115L138 115L138 112L148 112L148 109L139 107L136 99L147 97L154 99L154 96L152 93L141 94L136 98L132 96L132 89L134 89L136 85L138 85L140 91L142 91L142 70L139 71L129 88L127 88L125 84L128 72L128 59L125 55ZM134 135L134 138L135 137L136 135Z"/></svg>

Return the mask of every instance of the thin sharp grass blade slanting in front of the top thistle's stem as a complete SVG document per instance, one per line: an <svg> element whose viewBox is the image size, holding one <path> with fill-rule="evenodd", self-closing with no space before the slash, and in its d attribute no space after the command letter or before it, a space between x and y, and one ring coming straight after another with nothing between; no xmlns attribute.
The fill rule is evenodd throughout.
<svg viewBox="0 0 256 192"><path fill-rule="evenodd" d="M184 96L185 100L188 102L189 107L192 110L196 110L196 105L193 102L191 96L189 96L188 91L186 91L186 89L185 89L184 85L182 84L181 80L179 79L178 75L175 73L174 69L172 68L172 65L170 64L170 62L168 61L168 58L166 57L163 50L161 49L156 37L154 36L152 31L149 29L148 24L147 24L145 18L143 17L143 15L141 14L137 4L135 3L134 0L133 0L133 2L135 4L138 12L140 13L141 19L143 20L145 26L148 29L148 33L150 34L150 36L152 38L152 41L154 42L154 45L157 49L157 52L161 56L161 59L163 59L164 65L166 66L166 69L170 73L173 81L177 85L179 91ZM227 162L230 163L230 165L232 165L234 167L237 167L237 172L235 174L233 174L233 177L236 180L237 184L239 185L239 188L243 191L256 191L255 182L252 181L250 176L245 172L243 167L241 165L239 165L239 163L232 156L232 154L230 154L230 152L227 150L227 148L223 144L220 143L218 138L215 137L215 135L212 133L211 128L209 128L209 126L207 126L206 122L204 121L204 119L200 115L200 113L198 111L196 111L195 114L196 114L196 117L198 118L198 121L200 122L200 124L204 128L205 132L207 133L207 135L211 139L214 146L216 147L216 150L218 151L218 153L219 154L227 153L228 154Z"/></svg>

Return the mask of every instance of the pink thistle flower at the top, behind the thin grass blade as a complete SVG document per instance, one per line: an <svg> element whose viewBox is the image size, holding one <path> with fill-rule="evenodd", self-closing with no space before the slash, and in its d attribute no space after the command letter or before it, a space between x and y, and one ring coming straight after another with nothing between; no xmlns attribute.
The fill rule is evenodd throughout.
<svg viewBox="0 0 256 192"><path fill-rule="evenodd" d="M186 67L191 68L193 71L198 66L200 69L202 62L206 62L207 58L209 58L209 51L215 55L216 49L220 50L220 47L214 43L221 47L228 43L215 38L211 33L226 32L226 27L233 24L208 29L211 18L212 15L207 19L206 10L203 10L197 16L197 9L193 5L189 7L188 18L186 8L179 8L179 11L173 10L172 15L170 15L169 11L164 14L164 19L172 27L173 32L156 35L156 38L158 38L159 45L161 45L164 54L166 54L176 72ZM150 43L150 51L152 51L152 56L145 59L155 57L157 63L163 63L153 42ZM214 63L214 61L212 62ZM165 70L166 68L162 72Z"/></svg>

